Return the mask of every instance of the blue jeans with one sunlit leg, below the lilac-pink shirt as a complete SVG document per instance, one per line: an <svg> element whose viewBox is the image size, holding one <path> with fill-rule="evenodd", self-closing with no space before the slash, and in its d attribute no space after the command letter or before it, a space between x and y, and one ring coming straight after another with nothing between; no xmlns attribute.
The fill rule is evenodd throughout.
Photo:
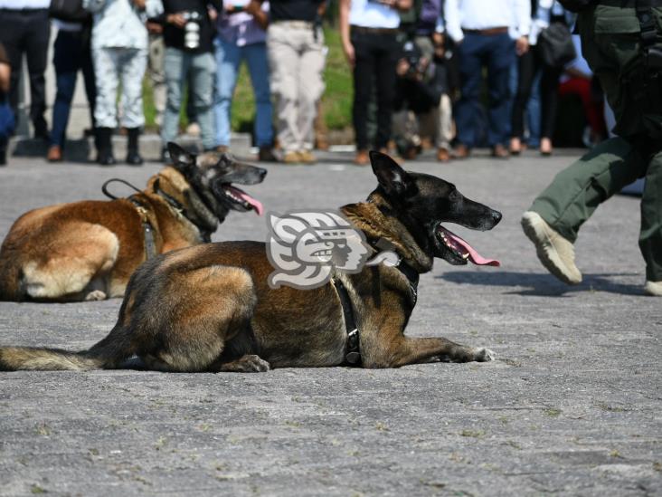
<svg viewBox="0 0 662 497"><path fill-rule="evenodd" d="M232 95L237 84L241 61L246 61L251 73L255 95L255 144L270 146L273 141L271 126L271 94L269 88L269 62L267 44L251 43L237 46L216 38L216 98L213 112L216 119L216 145L230 145Z"/></svg>

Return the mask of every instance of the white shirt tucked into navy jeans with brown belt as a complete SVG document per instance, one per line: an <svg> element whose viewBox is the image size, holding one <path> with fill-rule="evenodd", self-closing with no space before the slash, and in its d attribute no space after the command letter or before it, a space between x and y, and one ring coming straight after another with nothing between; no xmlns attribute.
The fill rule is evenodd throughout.
<svg viewBox="0 0 662 497"><path fill-rule="evenodd" d="M507 27L513 39L528 35L530 0L445 0L446 33L456 42L464 29Z"/></svg>

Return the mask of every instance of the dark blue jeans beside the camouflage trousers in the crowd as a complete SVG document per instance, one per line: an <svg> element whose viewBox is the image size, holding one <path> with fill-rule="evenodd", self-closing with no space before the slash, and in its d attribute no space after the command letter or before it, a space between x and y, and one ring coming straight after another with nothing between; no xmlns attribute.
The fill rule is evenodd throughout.
<svg viewBox="0 0 662 497"><path fill-rule="evenodd" d="M85 93L90 105L90 122L94 128L94 105L97 98L97 87L94 79L94 68L90 53L90 41L85 41L82 32L59 31L53 45L53 65L55 66L55 81L57 93L52 106L51 145L64 145L71 100L76 90L76 76L82 71L85 81Z"/></svg>

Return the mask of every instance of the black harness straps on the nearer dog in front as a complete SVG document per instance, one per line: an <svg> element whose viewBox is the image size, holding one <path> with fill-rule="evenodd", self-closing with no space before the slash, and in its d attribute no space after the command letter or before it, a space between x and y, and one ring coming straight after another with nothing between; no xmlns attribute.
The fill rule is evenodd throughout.
<svg viewBox="0 0 662 497"><path fill-rule="evenodd" d="M387 240L380 238L375 247L383 250L393 250L393 245ZM397 252L396 252L397 253ZM399 254L398 254L399 255ZM418 287L419 287L419 273L411 267L409 263L406 263L402 260L402 257L399 257L399 261L395 266L409 282L410 290L410 302L411 309L416 305L418 300ZM343 316L345 318L345 330L347 332L347 344L345 346L345 362L350 366L361 366L361 340L359 337L359 329L356 325L355 320L355 309L352 305L352 299L349 296L349 292L345 288L345 285L338 278L332 280L334 286L336 287L336 292L338 292L338 297L340 298L340 305L343 308Z"/></svg>

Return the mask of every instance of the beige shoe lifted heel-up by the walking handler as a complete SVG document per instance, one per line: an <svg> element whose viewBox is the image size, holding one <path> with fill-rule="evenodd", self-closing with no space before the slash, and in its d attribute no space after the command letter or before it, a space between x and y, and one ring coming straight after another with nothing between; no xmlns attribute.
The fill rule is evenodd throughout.
<svg viewBox="0 0 662 497"><path fill-rule="evenodd" d="M534 211L522 215L522 228L534 243L538 259L549 272L569 285L582 282L582 272L574 265L574 246L571 242L554 231Z"/></svg>

